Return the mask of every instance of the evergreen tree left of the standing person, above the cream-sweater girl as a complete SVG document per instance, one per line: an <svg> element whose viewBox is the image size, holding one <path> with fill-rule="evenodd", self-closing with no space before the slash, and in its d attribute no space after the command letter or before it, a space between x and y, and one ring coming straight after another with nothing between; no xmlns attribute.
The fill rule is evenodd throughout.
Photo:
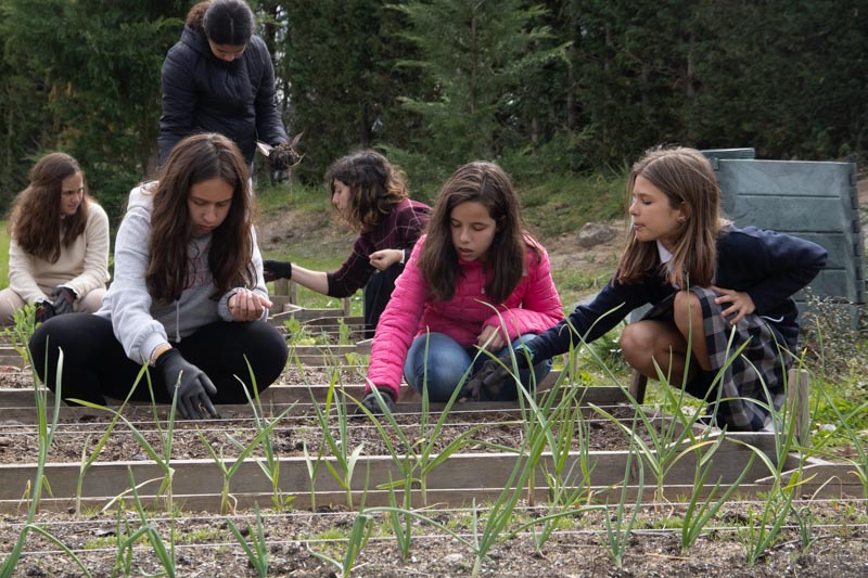
<svg viewBox="0 0 868 578"><path fill-rule="evenodd" d="M7 64L36 81L33 118L47 123L25 151L63 149L117 217L153 168L159 70L187 8L176 0L5 0ZM171 16L176 17L171 17ZM22 120L26 126L31 120Z"/></svg>

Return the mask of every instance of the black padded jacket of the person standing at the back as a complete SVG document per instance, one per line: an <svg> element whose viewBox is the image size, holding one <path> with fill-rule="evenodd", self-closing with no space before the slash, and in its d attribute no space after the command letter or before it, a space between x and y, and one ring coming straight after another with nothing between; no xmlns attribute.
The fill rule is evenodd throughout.
<svg viewBox="0 0 868 578"><path fill-rule="evenodd" d="M256 141L289 142L275 100L275 68L265 42L253 36L240 59L217 59L204 33L184 26L163 62L159 163L196 132L219 132L253 163Z"/></svg>

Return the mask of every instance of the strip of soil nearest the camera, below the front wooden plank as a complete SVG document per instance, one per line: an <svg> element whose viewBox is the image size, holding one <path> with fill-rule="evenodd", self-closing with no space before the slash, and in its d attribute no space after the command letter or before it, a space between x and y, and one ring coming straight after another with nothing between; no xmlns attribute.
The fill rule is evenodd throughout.
<svg viewBox="0 0 868 578"><path fill-rule="evenodd" d="M633 532L624 540L621 568L604 544L605 515L600 510L577 510L563 518L557 530L540 548L535 547L528 532L497 541L481 565L483 576L709 576L709 577L771 577L840 576L861 577L868 574L868 530L858 523L858 515L845 504L818 502L796 504L808 508L814 527L807 535L813 543L807 548L797 529L796 519L789 517L780 536L754 565L746 562L746 538L739 538L738 526L746 524L758 513L762 502L740 502L724 508L706 525L706 531L686 552L681 550L677 527L684 514L682 504L644 506L640 510ZM803 514L806 512L802 510ZM514 519L525 522L547 512L542 509L522 509ZM629 513L629 511L628 511ZM425 515L435 524L416 522L409 556L401 560L392 527L383 516L375 516L372 536L355 561L353 576L469 576L475 562L473 550L450 537L444 527L472 541L472 516L468 511L431 510ZM485 511L482 512L485 516ZM614 511L608 517L612 518ZM175 537L175 569L178 576L256 576L232 535L227 518L239 528L253 527L245 532L250 542L256 535L252 515L215 517L208 513L189 512L174 523L167 518L150 522L168 548ZM864 511L861 518L864 519ZM143 523L126 512L120 519L122 536L132 532ZM311 551L344 560L346 542L355 514L323 510L317 514L291 512L267 514L264 535L268 552L269 576L340 576L334 565L316 558ZM0 529L0 544L9 552L17 538L20 518L5 517ZM56 536L74 550L93 576L111 576L117 557L118 516L98 514L75 517L64 514L39 516L46 531ZM125 523L125 524L126 524ZM669 524L668 529L663 528ZM512 526L513 528L515 526ZM540 528L537 528L539 535ZM743 530L742 530L743 536ZM337 539L339 541L330 541ZM748 540L749 544L750 541ZM31 534L26 554L13 576L80 576L73 562L58 551L54 543ZM148 542L140 541L131 557L131 574L162 571L157 557Z"/></svg>

